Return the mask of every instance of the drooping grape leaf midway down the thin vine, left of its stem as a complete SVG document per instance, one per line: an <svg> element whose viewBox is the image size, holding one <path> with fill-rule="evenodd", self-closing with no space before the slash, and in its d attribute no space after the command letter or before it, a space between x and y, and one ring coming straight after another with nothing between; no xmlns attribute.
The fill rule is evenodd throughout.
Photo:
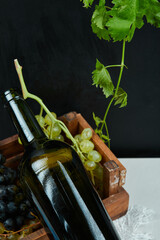
<svg viewBox="0 0 160 240"><path fill-rule="evenodd" d="M106 98L113 95L114 85L110 74L105 66L98 61L98 59L96 61L96 69L92 72L92 74L93 85L102 88Z"/></svg>

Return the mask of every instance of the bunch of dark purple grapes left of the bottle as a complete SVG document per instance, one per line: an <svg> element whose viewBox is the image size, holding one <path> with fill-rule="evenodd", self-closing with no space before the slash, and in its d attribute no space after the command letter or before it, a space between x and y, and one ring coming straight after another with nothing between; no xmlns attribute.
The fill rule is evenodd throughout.
<svg viewBox="0 0 160 240"><path fill-rule="evenodd" d="M21 229L26 219L34 219L30 202L17 184L17 172L4 166L6 159L0 154L0 222L6 230Z"/></svg>

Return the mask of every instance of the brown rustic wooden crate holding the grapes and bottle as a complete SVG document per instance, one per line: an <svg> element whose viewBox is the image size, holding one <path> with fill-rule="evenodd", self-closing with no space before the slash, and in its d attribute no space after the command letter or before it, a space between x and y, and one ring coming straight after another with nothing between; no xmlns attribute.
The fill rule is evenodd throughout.
<svg viewBox="0 0 160 240"><path fill-rule="evenodd" d="M82 115L76 112L67 113L60 119L73 136L81 133L84 128L91 128ZM0 152L7 158L6 165L13 168L18 166L24 151L17 139L18 135L14 135L0 141ZM122 187L125 183L126 169L94 131L92 141L95 149L102 155L101 164L104 168L104 198L102 201L111 218L115 220L125 215L128 210L129 195ZM23 240L49 240L49 238L40 225L38 230L24 237Z"/></svg>

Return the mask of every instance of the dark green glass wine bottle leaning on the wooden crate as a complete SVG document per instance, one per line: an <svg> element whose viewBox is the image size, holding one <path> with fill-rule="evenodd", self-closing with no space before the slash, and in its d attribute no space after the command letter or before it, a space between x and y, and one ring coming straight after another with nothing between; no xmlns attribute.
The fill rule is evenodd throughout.
<svg viewBox="0 0 160 240"><path fill-rule="evenodd" d="M49 140L15 90L3 94L25 153L20 182L50 239L120 240L77 152Z"/></svg>

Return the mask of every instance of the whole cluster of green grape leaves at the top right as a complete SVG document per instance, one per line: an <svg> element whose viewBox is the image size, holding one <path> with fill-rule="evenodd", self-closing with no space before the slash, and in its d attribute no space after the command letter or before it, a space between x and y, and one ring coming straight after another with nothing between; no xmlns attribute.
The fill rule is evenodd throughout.
<svg viewBox="0 0 160 240"><path fill-rule="evenodd" d="M86 8L94 0L81 0ZM114 42L123 39L130 42L135 29L142 28L144 17L147 22L160 27L160 2L158 0L112 0L112 8L107 11L106 1L100 0L95 6L91 19L92 30L101 39Z"/></svg>

